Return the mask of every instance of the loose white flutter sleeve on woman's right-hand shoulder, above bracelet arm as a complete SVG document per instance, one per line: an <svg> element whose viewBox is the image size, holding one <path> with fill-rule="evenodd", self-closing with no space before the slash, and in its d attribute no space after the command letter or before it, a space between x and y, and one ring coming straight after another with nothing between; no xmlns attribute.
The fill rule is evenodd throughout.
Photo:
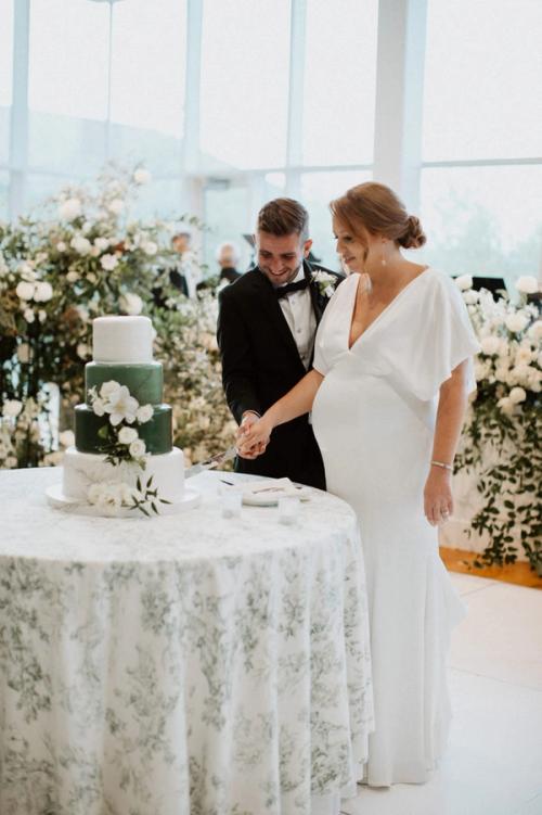
<svg viewBox="0 0 542 815"><path fill-rule="evenodd" d="M411 360L405 374L417 398L433 399L440 385L461 362L468 360L468 393L476 390L473 355L479 344L460 290L446 275L438 272L412 326Z"/></svg>

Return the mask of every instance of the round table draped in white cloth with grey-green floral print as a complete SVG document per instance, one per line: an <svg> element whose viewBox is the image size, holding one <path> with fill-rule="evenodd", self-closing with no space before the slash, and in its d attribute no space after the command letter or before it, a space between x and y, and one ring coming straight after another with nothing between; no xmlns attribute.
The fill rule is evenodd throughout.
<svg viewBox="0 0 542 815"><path fill-rule="evenodd" d="M373 729L356 517L312 491L223 519L50 508L0 472L2 815L311 815L356 794Z"/></svg>

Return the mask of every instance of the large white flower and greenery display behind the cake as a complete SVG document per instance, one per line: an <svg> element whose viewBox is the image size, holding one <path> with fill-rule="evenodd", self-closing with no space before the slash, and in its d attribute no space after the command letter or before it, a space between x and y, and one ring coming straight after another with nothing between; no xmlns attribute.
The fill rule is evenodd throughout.
<svg viewBox="0 0 542 815"><path fill-rule="evenodd" d="M188 301L170 286L171 235L188 216L130 218L149 180L142 167L111 168L91 187L62 190L36 216L0 224L0 468L62 460L92 358L92 320L106 314L152 318L175 443L186 458L231 444L217 301Z"/></svg>

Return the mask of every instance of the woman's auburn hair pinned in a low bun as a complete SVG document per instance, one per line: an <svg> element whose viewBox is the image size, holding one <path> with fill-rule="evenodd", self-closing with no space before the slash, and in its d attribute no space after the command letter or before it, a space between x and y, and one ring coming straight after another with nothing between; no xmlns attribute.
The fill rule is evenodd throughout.
<svg viewBox="0 0 542 815"><path fill-rule="evenodd" d="M376 181L352 187L332 201L333 215L358 238L362 229L383 234L403 249L418 249L426 242L420 219L409 215L402 201L385 184Z"/></svg>

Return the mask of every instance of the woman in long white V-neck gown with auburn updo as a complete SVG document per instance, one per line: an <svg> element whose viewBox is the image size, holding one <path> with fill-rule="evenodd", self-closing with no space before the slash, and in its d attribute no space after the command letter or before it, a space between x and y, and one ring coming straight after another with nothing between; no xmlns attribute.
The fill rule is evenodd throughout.
<svg viewBox="0 0 542 815"><path fill-rule="evenodd" d="M376 730L365 781L423 784L447 740L446 655L463 607L438 553L478 344L452 280L405 259L420 221L379 183L332 202L349 276L315 340L313 369L250 429L241 455L312 409L327 488L356 510L367 573Z"/></svg>

